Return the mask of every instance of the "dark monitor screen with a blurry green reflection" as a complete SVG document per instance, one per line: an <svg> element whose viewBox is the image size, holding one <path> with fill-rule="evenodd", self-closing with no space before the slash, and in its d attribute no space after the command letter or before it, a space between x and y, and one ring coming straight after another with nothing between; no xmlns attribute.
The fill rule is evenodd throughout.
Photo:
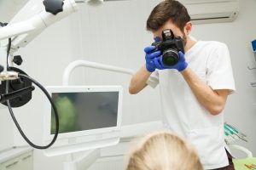
<svg viewBox="0 0 256 170"><path fill-rule="evenodd" d="M59 133L116 127L118 92L53 93L59 112ZM55 115L51 110L50 133L55 133Z"/></svg>

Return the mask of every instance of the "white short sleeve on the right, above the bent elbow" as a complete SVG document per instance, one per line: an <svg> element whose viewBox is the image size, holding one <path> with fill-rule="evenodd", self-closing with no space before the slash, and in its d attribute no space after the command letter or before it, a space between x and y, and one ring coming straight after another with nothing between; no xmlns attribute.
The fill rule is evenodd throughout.
<svg viewBox="0 0 256 170"><path fill-rule="evenodd" d="M230 52L224 43L213 44L207 59L207 84L213 89L236 90Z"/></svg>

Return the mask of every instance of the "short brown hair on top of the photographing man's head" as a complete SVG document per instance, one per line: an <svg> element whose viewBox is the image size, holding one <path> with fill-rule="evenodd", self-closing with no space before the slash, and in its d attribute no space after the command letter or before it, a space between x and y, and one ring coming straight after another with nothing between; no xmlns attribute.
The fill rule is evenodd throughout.
<svg viewBox="0 0 256 170"><path fill-rule="evenodd" d="M166 24L166 21L172 20L181 31L187 22L190 21L190 16L187 8L176 0L164 0L154 7L147 20L147 30L157 31L161 26Z"/></svg>

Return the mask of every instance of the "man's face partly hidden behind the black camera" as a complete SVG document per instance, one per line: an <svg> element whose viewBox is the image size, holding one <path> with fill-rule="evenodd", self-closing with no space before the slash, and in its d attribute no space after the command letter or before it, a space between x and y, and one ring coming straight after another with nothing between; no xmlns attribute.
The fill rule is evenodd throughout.
<svg viewBox="0 0 256 170"><path fill-rule="evenodd" d="M167 21L166 24L164 26L160 27L159 30L153 31L154 38L155 37L159 37L160 41L163 41L163 39L162 39L162 31L166 30L166 29L171 29L173 31L175 37L178 37L178 36L182 37L183 38L183 42L184 42L184 46L186 45L187 38L186 38L185 34L177 26L172 24L171 20Z"/></svg>

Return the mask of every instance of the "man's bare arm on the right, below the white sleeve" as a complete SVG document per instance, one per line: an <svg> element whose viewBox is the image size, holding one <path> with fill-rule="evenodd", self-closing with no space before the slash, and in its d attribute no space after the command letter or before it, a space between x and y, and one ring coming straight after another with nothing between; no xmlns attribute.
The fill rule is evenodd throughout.
<svg viewBox="0 0 256 170"><path fill-rule="evenodd" d="M201 79L189 68L181 71L181 74L189 84L189 87L195 94L196 99L198 99L207 111L216 116L224 110L229 89L213 90L205 82L202 82Z"/></svg>

